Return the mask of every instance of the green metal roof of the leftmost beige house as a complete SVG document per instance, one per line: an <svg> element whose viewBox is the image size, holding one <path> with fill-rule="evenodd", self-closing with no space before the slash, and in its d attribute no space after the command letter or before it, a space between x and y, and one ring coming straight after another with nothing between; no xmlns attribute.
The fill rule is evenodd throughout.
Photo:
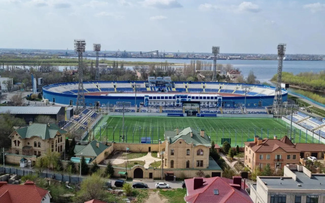
<svg viewBox="0 0 325 203"><path fill-rule="evenodd" d="M57 131L64 134L67 131L61 130L55 124L33 123L29 126L16 129L16 132L22 139L31 138L34 136L42 138L42 140L53 139Z"/></svg>

